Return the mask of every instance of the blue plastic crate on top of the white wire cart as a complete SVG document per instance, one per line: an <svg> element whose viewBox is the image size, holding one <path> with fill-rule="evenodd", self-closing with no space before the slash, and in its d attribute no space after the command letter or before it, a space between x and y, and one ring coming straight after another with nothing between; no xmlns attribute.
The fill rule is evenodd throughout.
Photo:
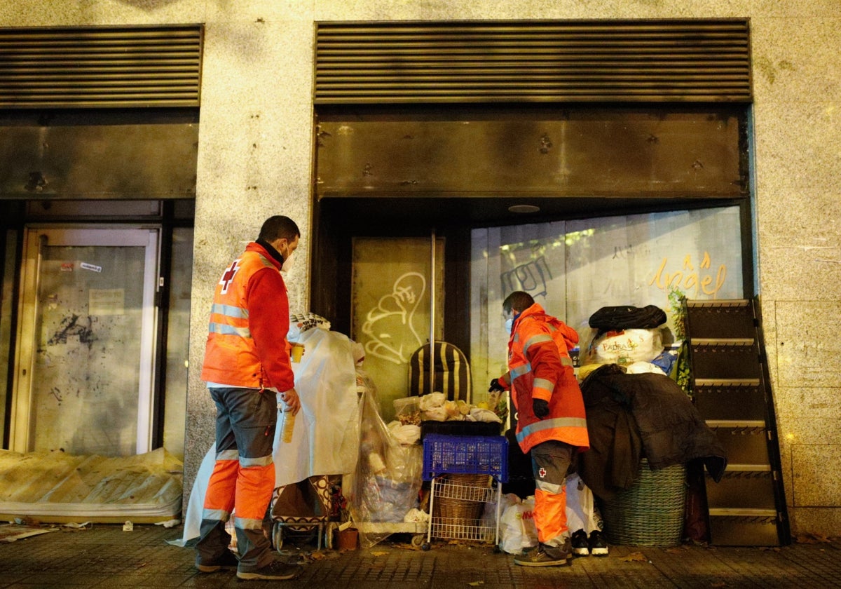
<svg viewBox="0 0 841 589"><path fill-rule="evenodd" d="M508 440L504 436L448 436L429 433L423 438L423 478L450 474L492 475L508 481Z"/></svg>

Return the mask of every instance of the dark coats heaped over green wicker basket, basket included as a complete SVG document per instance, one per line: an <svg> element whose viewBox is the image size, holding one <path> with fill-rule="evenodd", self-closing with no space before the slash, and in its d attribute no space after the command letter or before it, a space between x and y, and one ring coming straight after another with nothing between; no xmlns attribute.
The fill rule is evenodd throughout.
<svg viewBox="0 0 841 589"><path fill-rule="evenodd" d="M581 393L590 450L579 455L578 471L599 500L608 541L679 544L686 464L703 463L716 482L727 467L715 432L665 374L606 364L584 379Z"/></svg>

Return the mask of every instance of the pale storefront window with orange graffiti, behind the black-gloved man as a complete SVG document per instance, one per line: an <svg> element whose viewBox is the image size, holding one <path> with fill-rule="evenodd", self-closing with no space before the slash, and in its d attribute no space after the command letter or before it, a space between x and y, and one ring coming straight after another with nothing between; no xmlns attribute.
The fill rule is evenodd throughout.
<svg viewBox="0 0 841 589"><path fill-rule="evenodd" d="M505 371L501 310L514 290L576 328L582 346L592 337L590 315L603 306L658 305L671 343L673 291L692 300L743 298L739 215L735 206L473 230L473 390Z"/></svg>

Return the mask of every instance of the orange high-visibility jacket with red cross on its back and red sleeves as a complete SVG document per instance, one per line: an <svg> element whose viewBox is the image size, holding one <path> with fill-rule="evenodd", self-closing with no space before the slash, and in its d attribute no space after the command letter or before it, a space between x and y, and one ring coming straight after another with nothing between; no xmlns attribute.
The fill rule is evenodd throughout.
<svg viewBox="0 0 841 589"><path fill-rule="evenodd" d="M255 242L222 274L214 291L202 379L218 385L294 388L289 363L289 301L281 263Z"/></svg>

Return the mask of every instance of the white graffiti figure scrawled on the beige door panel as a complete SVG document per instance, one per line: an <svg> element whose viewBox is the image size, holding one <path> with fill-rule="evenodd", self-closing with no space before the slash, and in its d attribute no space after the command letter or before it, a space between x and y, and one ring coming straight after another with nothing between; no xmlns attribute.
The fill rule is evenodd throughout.
<svg viewBox="0 0 841 589"><path fill-rule="evenodd" d="M424 341L414 326L415 312L426 292L426 278L407 272L394 281L389 294L368 311L362 333L370 337L365 352L395 364L409 361Z"/></svg>

